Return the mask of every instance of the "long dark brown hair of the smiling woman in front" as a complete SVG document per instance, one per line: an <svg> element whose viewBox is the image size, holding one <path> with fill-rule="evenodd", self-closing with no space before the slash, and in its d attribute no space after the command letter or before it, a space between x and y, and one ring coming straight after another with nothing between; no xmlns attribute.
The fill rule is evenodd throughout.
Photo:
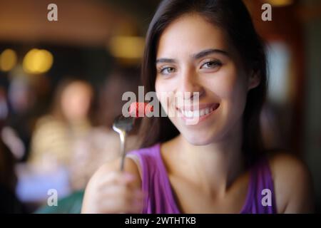
<svg viewBox="0 0 321 228"><path fill-rule="evenodd" d="M156 49L165 28L183 14L197 13L227 34L248 72L260 77L260 85L248 92L243 113L243 151L251 162L263 152L260 111L265 101L267 66L263 41L256 33L252 19L241 0L164 0L158 6L146 36L142 82L145 91L155 91ZM179 132L168 118L145 118L141 125L141 147L165 142Z"/></svg>

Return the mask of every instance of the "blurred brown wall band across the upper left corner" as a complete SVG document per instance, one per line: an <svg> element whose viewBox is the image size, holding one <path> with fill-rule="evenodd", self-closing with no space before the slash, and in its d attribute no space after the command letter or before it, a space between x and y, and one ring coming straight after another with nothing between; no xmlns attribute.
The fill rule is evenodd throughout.
<svg viewBox="0 0 321 228"><path fill-rule="evenodd" d="M48 21L47 6L58 6L58 21ZM0 0L0 41L106 46L113 33L133 29L136 19L109 1Z"/></svg>

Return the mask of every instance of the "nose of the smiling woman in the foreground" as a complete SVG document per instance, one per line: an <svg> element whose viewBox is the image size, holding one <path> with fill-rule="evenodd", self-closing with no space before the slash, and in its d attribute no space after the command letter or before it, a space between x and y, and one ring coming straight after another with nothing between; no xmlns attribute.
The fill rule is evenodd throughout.
<svg viewBox="0 0 321 228"><path fill-rule="evenodd" d="M181 71L180 81L176 91L178 96L182 96L184 100L193 100L195 95L203 95L204 88L201 85L198 74L192 69Z"/></svg>

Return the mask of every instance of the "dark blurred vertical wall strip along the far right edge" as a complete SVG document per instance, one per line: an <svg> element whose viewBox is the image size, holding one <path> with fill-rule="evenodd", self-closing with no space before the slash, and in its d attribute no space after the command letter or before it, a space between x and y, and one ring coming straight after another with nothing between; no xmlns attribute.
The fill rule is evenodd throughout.
<svg viewBox="0 0 321 228"><path fill-rule="evenodd" d="M321 2L305 0L310 9L305 16L305 158L312 172L317 197L317 212L321 212Z"/></svg>

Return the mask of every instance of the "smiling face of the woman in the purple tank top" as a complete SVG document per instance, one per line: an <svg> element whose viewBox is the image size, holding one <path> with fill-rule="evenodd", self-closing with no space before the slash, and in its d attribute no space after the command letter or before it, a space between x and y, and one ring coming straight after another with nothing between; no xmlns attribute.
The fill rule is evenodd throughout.
<svg viewBox="0 0 321 228"><path fill-rule="evenodd" d="M259 83L247 75L227 40L223 30L188 14L165 28L158 43L158 100L167 114L176 114L170 120L193 145L222 140L238 128L248 90ZM199 105L185 92L198 92ZM175 102L178 98L190 105ZM195 124L188 123L192 115L198 118Z"/></svg>

